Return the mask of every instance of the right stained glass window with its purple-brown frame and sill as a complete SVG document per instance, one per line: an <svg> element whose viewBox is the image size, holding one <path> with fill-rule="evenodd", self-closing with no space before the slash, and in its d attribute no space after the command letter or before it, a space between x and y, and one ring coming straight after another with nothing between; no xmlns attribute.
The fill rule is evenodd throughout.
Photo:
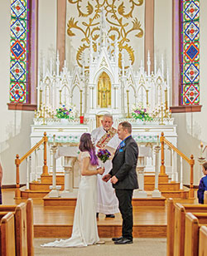
<svg viewBox="0 0 207 256"><path fill-rule="evenodd" d="M171 111L201 111L200 1L173 0Z"/></svg>

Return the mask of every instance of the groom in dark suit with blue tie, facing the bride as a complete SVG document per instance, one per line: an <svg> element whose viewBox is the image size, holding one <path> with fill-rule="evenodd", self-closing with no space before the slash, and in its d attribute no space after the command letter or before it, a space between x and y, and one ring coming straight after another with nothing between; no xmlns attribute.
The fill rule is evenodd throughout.
<svg viewBox="0 0 207 256"><path fill-rule="evenodd" d="M123 218L123 234L119 238L113 238L114 244L132 244L132 194L133 190L138 188L136 172L138 147L131 134L130 123L123 121L118 125L118 138L122 142L113 157L112 170L108 175L103 176L105 182L111 179Z"/></svg>

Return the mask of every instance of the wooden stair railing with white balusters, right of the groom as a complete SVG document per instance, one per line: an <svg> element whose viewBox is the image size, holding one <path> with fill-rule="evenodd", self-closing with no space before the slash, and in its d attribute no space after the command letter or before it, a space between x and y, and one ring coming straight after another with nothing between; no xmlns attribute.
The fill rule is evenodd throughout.
<svg viewBox="0 0 207 256"><path fill-rule="evenodd" d="M181 190L182 190L182 177L183 177L182 160L185 160L190 165L189 198L194 198L194 185L193 185L194 184L194 165L195 165L194 156L190 155L190 159L189 159L180 150L178 150L175 145L172 145L170 141L166 140L163 132L161 132L160 141L161 141L161 171L160 171L160 175L166 175L166 166L165 166L165 144L166 144L171 148L171 150L175 151L177 155L181 156Z"/></svg>

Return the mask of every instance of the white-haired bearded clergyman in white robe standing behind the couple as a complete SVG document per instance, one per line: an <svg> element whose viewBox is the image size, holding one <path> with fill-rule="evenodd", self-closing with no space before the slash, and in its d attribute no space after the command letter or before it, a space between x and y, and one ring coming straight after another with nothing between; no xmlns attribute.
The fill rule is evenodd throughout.
<svg viewBox="0 0 207 256"><path fill-rule="evenodd" d="M101 121L102 126L92 131L91 135L94 140L96 150L107 149L113 156L116 148L121 140L118 139L117 130L113 128L113 116L105 114ZM99 160L100 161L100 160ZM100 163L101 165L101 163ZM109 170L112 169L112 160L107 160L104 164L104 173L107 175ZM114 218L118 210L118 199L111 183L105 183L102 180L102 176L97 176L98 186L98 199L97 199L97 217L99 213L105 214L106 218Z"/></svg>

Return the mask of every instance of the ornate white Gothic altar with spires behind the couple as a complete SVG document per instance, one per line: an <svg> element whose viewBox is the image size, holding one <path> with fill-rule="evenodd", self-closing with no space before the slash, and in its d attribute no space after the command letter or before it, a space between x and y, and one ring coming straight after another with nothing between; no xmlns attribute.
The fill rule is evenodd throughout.
<svg viewBox="0 0 207 256"><path fill-rule="evenodd" d="M84 132L91 132L100 125L101 117L113 115L113 127L122 121L132 124L132 136L139 147L149 146L152 156L147 156L145 175L155 174L154 147L159 145L161 132L172 145L177 145L176 125L169 108L170 80L163 59L151 66L147 56L147 70L143 62L134 69L118 47L116 37L108 36L107 22L103 13L99 22L98 39L89 38L89 58L82 57L82 64L69 70L67 62L60 69L59 53L50 65L43 60L38 76L37 111L31 125L31 146L41 140L46 132L48 138L47 162L49 174L54 172L52 146L74 145ZM99 47L94 47L94 46ZM120 58L121 57L121 58ZM86 63L87 62L87 63ZM55 140L54 140L55 137ZM176 155L166 151L166 175L178 180ZM41 176L42 148L31 159L30 180ZM64 156L55 164L55 173L63 174ZM72 168L72 189L79 185L77 162Z"/></svg>

